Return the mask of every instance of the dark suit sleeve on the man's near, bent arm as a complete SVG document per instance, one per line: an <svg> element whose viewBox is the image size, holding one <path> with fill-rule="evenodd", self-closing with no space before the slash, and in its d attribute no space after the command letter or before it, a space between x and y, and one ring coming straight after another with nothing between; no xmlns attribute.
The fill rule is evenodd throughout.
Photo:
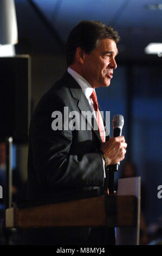
<svg viewBox="0 0 162 256"><path fill-rule="evenodd" d="M100 153L71 153L73 131L53 130L51 114L62 113L67 103L58 96L43 99L30 124L30 142L38 182L50 187L103 186Z"/></svg>

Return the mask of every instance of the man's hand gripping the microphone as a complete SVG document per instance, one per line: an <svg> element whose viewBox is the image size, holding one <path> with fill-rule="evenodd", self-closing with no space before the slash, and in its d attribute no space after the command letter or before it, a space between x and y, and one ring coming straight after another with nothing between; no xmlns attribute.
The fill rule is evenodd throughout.
<svg viewBox="0 0 162 256"><path fill-rule="evenodd" d="M109 141L102 143L101 150L107 157L109 164L115 164L125 158L127 143L124 136L110 138Z"/></svg>

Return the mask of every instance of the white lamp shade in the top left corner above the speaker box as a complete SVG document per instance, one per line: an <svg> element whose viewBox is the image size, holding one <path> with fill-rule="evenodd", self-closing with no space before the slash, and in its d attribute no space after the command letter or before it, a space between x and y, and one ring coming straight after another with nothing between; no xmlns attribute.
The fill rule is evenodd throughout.
<svg viewBox="0 0 162 256"><path fill-rule="evenodd" d="M0 0L0 44L17 44L17 34L14 0Z"/></svg>

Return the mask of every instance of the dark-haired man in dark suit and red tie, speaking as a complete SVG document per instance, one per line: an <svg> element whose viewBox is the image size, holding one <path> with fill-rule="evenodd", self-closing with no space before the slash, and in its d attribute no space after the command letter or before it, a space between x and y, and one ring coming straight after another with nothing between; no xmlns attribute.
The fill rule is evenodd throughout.
<svg viewBox="0 0 162 256"><path fill-rule="evenodd" d="M118 33L101 22L82 21L70 32L66 44L68 70L42 97L31 119L29 202L93 190L102 194L109 164L124 159L125 139L123 136L109 139L95 101L95 88L108 87L113 77L118 40ZM83 129L82 121L89 125L84 114L92 112L92 129ZM60 245L114 243L113 234L111 239L109 233L106 240L104 230L26 230L25 241Z"/></svg>

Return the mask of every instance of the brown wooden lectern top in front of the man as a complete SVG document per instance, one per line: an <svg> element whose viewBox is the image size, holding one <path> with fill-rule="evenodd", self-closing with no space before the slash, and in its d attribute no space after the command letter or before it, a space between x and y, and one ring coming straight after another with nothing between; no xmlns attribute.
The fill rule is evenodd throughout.
<svg viewBox="0 0 162 256"><path fill-rule="evenodd" d="M125 180L125 179L124 179ZM136 181L137 182L137 181ZM14 207L6 210L7 228L41 227L120 227L121 235L132 233L135 237L125 245L138 245L139 237L139 198L135 194L121 196L96 196L67 200L66 202L48 203L30 207ZM130 231L131 228L131 231ZM121 230L120 230L121 231ZM118 241L120 234L118 234ZM118 243L119 244L119 243Z"/></svg>

